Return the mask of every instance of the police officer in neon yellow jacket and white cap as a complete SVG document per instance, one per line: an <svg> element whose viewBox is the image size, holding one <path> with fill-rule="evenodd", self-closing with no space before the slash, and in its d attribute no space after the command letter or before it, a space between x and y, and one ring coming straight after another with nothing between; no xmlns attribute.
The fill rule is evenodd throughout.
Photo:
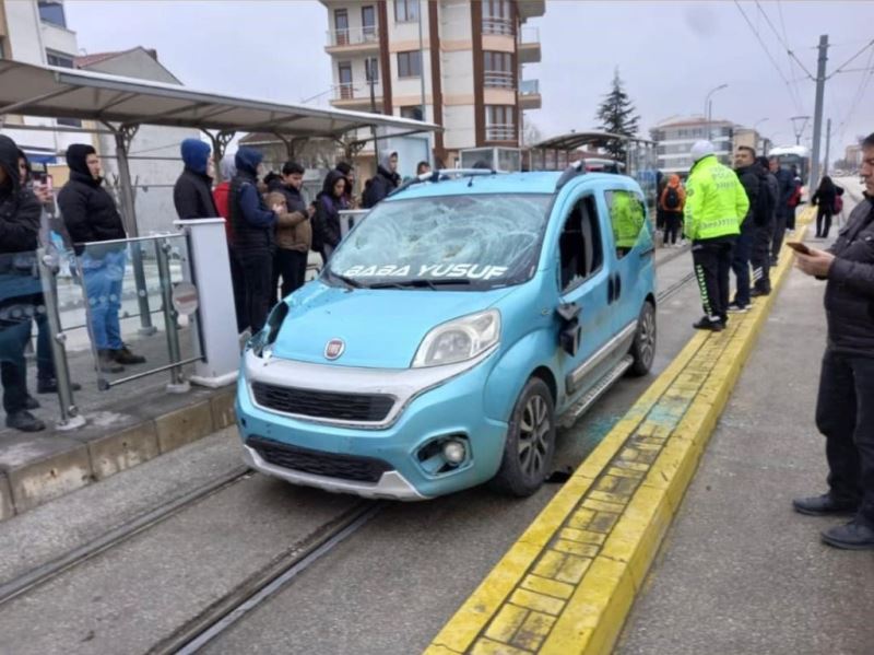
<svg viewBox="0 0 874 655"><path fill-rule="evenodd" d="M720 164L714 153L710 141L692 147L695 163L686 182L684 218L704 305L704 317L693 327L718 332L728 320L732 248L749 200L734 171Z"/></svg>

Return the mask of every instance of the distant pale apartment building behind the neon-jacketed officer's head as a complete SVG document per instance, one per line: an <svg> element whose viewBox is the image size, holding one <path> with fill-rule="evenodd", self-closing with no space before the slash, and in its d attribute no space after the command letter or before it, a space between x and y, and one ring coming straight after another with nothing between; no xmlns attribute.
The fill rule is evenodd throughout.
<svg viewBox="0 0 874 655"><path fill-rule="evenodd" d="M693 161L689 151L699 139L709 139L716 147L719 161L732 165L735 126L729 120L704 118L670 119L657 125L650 131L657 143L659 169L662 173L687 174Z"/></svg>

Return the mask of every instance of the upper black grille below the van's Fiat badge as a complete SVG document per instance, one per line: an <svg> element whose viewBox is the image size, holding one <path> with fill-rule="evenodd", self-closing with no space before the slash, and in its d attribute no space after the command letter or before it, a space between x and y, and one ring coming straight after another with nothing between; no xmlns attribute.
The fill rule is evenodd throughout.
<svg viewBox="0 0 874 655"><path fill-rule="evenodd" d="M268 409L339 421L383 421L394 405L394 398L391 396L314 391L262 382L252 384L252 393L256 402Z"/></svg>

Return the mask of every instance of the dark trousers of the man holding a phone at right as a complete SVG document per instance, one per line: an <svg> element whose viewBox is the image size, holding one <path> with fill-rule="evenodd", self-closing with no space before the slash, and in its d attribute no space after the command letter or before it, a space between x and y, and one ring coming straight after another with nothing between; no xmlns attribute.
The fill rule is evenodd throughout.
<svg viewBox="0 0 874 655"><path fill-rule="evenodd" d="M874 527L874 358L826 350L816 426L826 436L831 495L860 501L859 518Z"/></svg>

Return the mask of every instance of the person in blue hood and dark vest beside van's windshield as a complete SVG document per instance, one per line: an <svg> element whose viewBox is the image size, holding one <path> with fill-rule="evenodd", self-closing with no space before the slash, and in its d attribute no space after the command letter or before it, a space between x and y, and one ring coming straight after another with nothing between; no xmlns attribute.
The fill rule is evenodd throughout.
<svg viewBox="0 0 874 655"><path fill-rule="evenodd" d="M276 211L267 208L258 191L258 167L262 155L255 149L240 148L234 157L237 175L231 180L228 211L234 232L232 252L243 271L244 325L255 335L267 321L275 296L273 252Z"/></svg>

